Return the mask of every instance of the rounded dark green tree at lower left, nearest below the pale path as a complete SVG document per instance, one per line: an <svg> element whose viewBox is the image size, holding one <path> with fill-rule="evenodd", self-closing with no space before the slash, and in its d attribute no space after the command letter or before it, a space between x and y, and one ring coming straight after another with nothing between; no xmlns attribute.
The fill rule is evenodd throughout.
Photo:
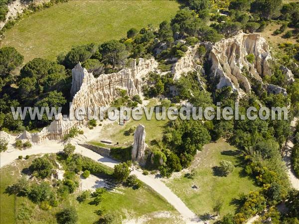
<svg viewBox="0 0 299 224"><path fill-rule="evenodd" d="M33 176L39 177L41 179L50 177L52 168L53 165L51 164L47 156L34 159L30 166L30 170L33 173Z"/></svg>

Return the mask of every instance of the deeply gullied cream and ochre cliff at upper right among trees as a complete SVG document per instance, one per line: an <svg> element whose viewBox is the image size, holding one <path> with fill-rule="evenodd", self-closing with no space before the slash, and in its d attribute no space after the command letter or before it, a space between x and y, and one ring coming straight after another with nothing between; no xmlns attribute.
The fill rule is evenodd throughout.
<svg viewBox="0 0 299 224"><path fill-rule="evenodd" d="M254 61L249 62L247 55L253 54ZM271 75L268 59L271 58L269 46L260 34L240 32L233 38L222 39L215 43L209 53L212 63L211 76L218 79L217 88L231 86L238 90L242 87L250 92L251 84L244 71L250 77L262 80L261 77Z"/></svg>

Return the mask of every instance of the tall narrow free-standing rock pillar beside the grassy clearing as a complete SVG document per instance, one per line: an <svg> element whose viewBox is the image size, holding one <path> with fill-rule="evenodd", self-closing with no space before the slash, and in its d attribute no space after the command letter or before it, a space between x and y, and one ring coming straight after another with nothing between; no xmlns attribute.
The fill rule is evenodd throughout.
<svg viewBox="0 0 299 224"><path fill-rule="evenodd" d="M144 162L146 144L146 130L145 126L138 125L134 132L134 144L132 147L132 160L138 162Z"/></svg>

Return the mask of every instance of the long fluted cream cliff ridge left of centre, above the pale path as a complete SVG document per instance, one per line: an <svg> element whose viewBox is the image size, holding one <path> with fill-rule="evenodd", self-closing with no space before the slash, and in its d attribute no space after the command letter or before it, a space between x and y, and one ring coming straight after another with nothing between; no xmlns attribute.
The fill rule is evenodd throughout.
<svg viewBox="0 0 299 224"><path fill-rule="evenodd" d="M118 97L117 90L119 88L126 89L129 96L139 94L141 89L139 78L155 71L157 65L153 58L149 60L140 58L138 65L134 60L131 68L124 68L119 72L103 74L94 78L92 73L88 73L78 63L72 69L71 95L73 101L70 116L73 116L73 119L64 119L62 114L58 114L57 120L52 121L48 127L43 128L38 133L29 133L30 137L27 136L26 139L31 138L32 143L40 143L45 140L62 140L70 128L81 127L86 123L85 120L79 121L75 118L75 109L84 108L87 111L88 107L108 106Z"/></svg>

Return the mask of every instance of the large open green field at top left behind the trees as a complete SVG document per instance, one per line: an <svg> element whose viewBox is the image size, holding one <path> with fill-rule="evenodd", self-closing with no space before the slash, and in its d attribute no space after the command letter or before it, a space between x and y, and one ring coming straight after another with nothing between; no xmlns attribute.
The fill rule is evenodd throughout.
<svg viewBox="0 0 299 224"><path fill-rule="evenodd" d="M6 32L1 46L15 47L24 62L35 57L55 59L73 45L120 39L132 27L158 27L178 8L174 0L69 0L24 17Z"/></svg>

